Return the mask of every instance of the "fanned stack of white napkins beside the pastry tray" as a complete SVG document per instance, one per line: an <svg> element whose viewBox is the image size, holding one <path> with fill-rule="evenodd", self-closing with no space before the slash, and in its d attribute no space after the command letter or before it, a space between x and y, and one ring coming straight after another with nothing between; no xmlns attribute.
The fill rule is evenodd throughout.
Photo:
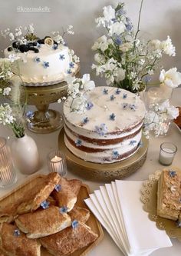
<svg viewBox="0 0 181 256"><path fill-rule="evenodd" d="M124 255L149 255L172 246L166 232L156 228L143 211L141 186L142 181L115 181L85 200Z"/></svg>

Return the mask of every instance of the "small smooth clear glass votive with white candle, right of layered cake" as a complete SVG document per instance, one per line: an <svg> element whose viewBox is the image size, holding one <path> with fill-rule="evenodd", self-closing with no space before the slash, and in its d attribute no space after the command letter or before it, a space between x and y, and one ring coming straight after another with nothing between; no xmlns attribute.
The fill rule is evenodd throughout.
<svg viewBox="0 0 181 256"><path fill-rule="evenodd" d="M159 161L161 165L171 165L176 155L177 147L171 142L163 142L160 145Z"/></svg>

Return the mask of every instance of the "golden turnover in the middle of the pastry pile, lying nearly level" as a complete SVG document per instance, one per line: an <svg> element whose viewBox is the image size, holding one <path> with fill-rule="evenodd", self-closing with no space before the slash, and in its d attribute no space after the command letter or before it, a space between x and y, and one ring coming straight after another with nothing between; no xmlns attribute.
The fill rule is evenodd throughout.
<svg viewBox="0 0 181 256"><path fill-rule="evenodd" d="M71 218L56 206L33 213L23 214L15 219L18 228L28 238L42 238L71 226Z"/></svg>

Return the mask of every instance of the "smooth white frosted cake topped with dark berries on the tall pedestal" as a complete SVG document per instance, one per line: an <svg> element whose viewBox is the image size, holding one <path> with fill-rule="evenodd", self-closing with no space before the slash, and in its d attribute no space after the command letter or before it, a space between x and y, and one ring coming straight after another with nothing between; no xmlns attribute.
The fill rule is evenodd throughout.
<svg viewBox="0 0 181 256"><path fill-rule="evenodd" d="M19 58L12 63L12 71L21 75L25 85L54 84L77 72L78 65L67 46L33 42L28 51L26 45L23 46L22 52L19 46L6 48L5 57Z"/></svg>

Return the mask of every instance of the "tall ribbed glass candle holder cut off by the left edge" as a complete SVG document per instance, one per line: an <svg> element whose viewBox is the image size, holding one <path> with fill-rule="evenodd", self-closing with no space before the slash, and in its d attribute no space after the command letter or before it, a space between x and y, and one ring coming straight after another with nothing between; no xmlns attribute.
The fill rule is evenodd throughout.
<svg viewBox="0 0 181 256"><path fill-rule="evenodd" d="M12 154L5 138L0 137L0 188L15 184L17 175L12 162Z"/></svg>

